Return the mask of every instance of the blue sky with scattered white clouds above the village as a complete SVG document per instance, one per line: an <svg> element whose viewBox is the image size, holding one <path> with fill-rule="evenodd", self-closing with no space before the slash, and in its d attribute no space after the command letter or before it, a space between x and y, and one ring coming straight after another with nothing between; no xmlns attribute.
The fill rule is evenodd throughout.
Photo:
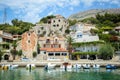
<svg viewBox="0 0 120 80"><path fill-rule="evenodd" d="M0 0L0 24L15 18L36 23L48 15L68 18L80 11L111 8L120 8L120 0Z"/></svg>

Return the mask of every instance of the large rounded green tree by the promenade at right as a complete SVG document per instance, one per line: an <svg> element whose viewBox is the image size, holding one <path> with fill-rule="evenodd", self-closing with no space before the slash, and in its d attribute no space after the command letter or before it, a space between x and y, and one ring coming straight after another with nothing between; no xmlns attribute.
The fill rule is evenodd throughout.
<svg viewBox="0 0 120 80"><path fill-rule="evenodd" d="M113 57L114 49L110 44L104 44L100 47L99 54L104 60L109 60Z"/></svg>

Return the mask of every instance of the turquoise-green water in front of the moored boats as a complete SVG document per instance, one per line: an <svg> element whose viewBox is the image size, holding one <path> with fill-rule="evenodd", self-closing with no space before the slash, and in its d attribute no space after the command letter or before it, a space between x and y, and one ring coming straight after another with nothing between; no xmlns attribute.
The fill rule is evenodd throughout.
<svg viewBox="0 0 120 80"><path fill-rule="evenodd" d="M60 69L45 71L36 68L31 72L25 68L14 70L0 70L0 80L120 80L120 70L72 70L61 71Z"/></svg>

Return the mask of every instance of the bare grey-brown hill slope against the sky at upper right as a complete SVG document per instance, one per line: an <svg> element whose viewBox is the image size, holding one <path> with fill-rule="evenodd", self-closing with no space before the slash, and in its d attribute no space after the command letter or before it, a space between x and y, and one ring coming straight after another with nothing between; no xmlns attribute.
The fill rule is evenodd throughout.
<svg viewBox="0 0 120 80"><path fill-rule="evenodd" d="M105 14L105 13L111 13L111 14L120 14L120 8L115 9L93 9L88 11L79 12L76 14L71 15L68 19L76 19L76 20L83 20L85 18L89 17L95 17L96 14Z"/></svg>

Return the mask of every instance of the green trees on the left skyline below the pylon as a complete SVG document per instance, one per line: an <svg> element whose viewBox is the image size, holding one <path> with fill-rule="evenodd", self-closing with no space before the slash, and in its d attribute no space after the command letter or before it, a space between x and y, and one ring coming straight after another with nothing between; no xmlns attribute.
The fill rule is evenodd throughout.
<svg viewBox="0 0 120 80"><path fill-rule="evenodd" d="M12 24L8 24L8 23L0 24L0 30L12 34L22 34L28 31L33 26L32 23L24 22L18 19L13 19L11 23Z"/></svg>

